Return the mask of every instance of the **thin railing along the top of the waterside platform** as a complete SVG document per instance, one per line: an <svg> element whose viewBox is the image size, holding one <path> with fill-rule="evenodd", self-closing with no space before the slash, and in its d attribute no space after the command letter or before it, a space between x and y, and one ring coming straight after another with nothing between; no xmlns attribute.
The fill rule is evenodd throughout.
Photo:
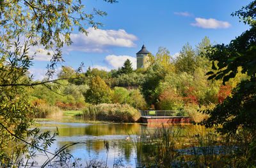
<svg viewBox="0 0 256 168"><path fill-rule="evenodd" d="M147 116L187 116L184 111L140 111L141 117Z"/></svg>

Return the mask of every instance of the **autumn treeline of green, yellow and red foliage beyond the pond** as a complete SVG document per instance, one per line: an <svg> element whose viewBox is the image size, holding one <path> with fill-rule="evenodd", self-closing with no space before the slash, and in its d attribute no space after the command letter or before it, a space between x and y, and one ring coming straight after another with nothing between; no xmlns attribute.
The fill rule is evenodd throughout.
<svg viewBox="0 0 256 168"><path fill-rule="evenodd" d="M237 83L247 78L239 72L225 85L219 80L207 80L205 74L212 68L212 61L206 56L207 47L211 47L207 37L195 47L186 43L177 57L159 47L156 55L150 54L150 66L138 70L132 70L129 59L110 72L89 67L78 73L71 66L62 66L60 80L47 83L47 87L29 88L27 94L34 105L44 103L63 110L127 103L139 110L185 111L195 115L200 108L212 108L223 102Z"/></svg>

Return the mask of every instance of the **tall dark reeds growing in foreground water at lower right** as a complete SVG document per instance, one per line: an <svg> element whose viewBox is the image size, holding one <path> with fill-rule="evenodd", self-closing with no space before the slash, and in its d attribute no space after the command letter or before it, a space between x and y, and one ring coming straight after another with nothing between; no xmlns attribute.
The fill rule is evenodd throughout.
<svg viewBox="0 0 256 168"><path fill-rule="evenodd" d="M203 131L202 130L207 130ZM246 167L256 165L250 156L251 143L244 133L219 135L213 129L195 126L187 132L162 125L154 133L141 134L134 141L138 167ZM245 138L247 139L247 138ZM254 143L255 144L255 143ZM249 159L250 158L250 159ZM246 163L246 164L245 164ZM251 167L251 166L250 166Z"/></svg>

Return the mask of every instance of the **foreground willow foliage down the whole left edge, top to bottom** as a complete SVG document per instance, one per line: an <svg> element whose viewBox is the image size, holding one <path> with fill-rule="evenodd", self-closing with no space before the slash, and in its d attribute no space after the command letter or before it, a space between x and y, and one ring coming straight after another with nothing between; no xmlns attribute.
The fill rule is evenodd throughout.
<svg viewBox="0 0 256 168"><path fill-rule="evenodd" d="M115 0L104 1L116 3ZM95 15L106 13L93 10L88 14L80 0L0 1L0 167L13 167L19 164L15 158L23 154L31 157L35 150L47 153L45 149L54 141L49 132L41 134L38 128L29 129L34 109L24 96L24 87L56 82L33 82L32 77L26 75L36 54L29 53L29 47L36 45L53 51L47 66L47 74L51 77L57 63L63 61L61 47L72 43L70 34L74 29L88 33L84 29L88 24L95 28L101 25L93 20ZM19 43L21 40L23 42Z"/></svg>

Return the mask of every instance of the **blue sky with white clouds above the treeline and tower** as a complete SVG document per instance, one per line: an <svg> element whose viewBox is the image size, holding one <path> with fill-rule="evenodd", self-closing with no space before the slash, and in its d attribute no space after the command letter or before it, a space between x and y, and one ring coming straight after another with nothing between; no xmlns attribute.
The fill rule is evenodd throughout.
<svg viewBox="0 0 256 168"><path fill-rule="evenodd" d="M88 36L74 31L72 45L63 48L65 62L58 65L75 69L84 63L84 72L90 66L110 71L130 59L136 68L136 52L145 44L156 54L166 47L172 56L178 56L187 42L195 47L207 36L212 43L229 43L248 29L230 14L250 3L248 0L119 0L109 4L102 0L82 1L88 12L93 8L106 11L106 17L95 17L104 26L95 30L86 27ZM31 49L35 51L37 49ZM42 50L35 56L30 72L34 79L43 79L51 59Z"/></svg>

